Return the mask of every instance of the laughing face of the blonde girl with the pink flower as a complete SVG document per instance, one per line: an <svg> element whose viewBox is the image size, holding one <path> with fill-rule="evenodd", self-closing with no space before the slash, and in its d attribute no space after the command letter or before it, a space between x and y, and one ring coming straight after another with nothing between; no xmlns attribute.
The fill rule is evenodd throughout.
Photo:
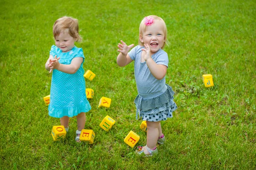
<svg viewBox="0 0 256 170"><path fill-rule="evenodd" d="M143 34L140 34L140 41L149 45L152 54L163 47L165 42L164 28L159 20L155 20L151 26L146 26Z"/></svg>

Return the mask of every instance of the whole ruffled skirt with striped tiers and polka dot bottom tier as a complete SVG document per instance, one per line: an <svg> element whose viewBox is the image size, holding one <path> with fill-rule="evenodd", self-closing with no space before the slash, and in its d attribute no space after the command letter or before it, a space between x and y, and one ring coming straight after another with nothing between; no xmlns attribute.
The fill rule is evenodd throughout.
<svg viewBox="0 0 256 170"><path fill-rule="evenodd" d="M172 112L177 109L176 103L173 101L175 94L172 87L167 85L167 90L160 96L152 99L143 99L139 94L134 100L136 105L136 119L141 117L142 120L157 122L172 118Z"/></svg>

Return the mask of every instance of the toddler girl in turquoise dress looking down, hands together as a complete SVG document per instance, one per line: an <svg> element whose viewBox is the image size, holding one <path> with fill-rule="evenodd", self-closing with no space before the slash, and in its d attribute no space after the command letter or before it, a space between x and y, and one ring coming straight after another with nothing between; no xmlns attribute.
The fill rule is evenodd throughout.
<svg viewBox="0 0 256 170"><path fill-rule="evenodd" d="M45 68L52 72L49 116L60 118L61 125L68 131L69 118L76 116L76 142L85 125L85 112L91 106L85 94L84 53L77 48L80 42L78 20L61 17L53 25L55 45L52 45Z"/></svg>

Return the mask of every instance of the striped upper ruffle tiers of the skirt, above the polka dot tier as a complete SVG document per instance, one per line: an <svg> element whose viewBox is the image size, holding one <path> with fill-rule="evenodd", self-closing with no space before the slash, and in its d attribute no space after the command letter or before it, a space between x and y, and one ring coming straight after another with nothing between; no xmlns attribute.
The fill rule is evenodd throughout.
<svg viewBox="0 0 256 170"><path fill-rule="evenodd" d="M173 95L175 92L172 90L172 87L167 85L167 90L161 94L160 96L154 97L152 99L142 99L140 102L140 95L138 94L134 100L136 108L140 108L140 111L149 111L152 109L157 109L163 106L164 104L168 104L169 102L173 102ZM140 106L139 106L140 103ZM173 102L174 103L174 102ZM170 105L173 105L170 103Z"/></svg>

